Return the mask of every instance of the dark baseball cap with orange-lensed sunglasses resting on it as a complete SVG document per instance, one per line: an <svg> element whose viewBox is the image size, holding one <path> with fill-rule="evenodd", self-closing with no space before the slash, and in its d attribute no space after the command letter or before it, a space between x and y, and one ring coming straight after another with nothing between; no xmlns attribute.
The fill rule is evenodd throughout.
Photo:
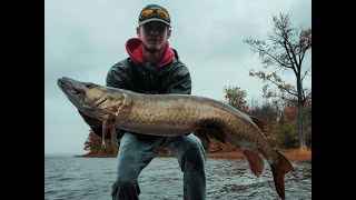
<svg viewBox="0 0 356 200"><path fill-rule="evenodd" d="M150 21L160 21L170 27L170 17L167 9L158 4L146 6L138 17L138 26L142 26Z"/></svg>

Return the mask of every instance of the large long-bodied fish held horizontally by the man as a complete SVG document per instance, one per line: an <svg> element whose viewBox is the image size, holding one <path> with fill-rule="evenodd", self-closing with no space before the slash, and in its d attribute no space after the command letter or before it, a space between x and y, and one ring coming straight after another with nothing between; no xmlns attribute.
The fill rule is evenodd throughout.
<svg viewBox="0 0 356 200"><path fill-rule="evenodd" d="M285 199L284 178L294 168L264 136L266 126L261 120L205 97L136 93L66 77L57 83L79 111L101 120L102 132L110 130L112 139L116 139L112 137L115 127L167 137L206 133L240 148L256 177L265 169L265 158L271 168L277 193Z"/></svg>

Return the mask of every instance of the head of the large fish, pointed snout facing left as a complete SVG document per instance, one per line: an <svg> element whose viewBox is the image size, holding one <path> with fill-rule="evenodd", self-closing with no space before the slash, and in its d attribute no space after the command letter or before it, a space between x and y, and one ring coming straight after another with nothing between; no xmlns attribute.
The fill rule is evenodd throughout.
<svg viewBox="0 0 356 200"><path fill-rule="evenodd" d="M78 110L102 121L125 104L126 94L120 89L67 77L58 79L57 84Z"/></svg>

